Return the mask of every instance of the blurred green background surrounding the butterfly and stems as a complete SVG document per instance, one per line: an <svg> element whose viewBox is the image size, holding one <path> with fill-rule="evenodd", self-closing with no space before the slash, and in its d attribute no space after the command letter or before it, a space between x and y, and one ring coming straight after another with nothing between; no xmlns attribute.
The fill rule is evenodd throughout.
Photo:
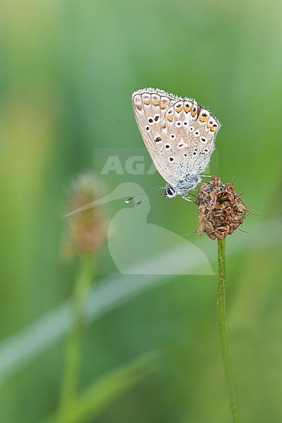
<svg viewBox="0 0 282 423"><path fill-rule="evenodd" d="M77 263L61 254L69 181L95 167L97 149L142 147L131 94L160 87L195 97L219 117L212 169L224 182L234 178L257 214L244 224L248 233L238 231L227 242L231 356L243 422L281 422L281 16L278 0L1 1L3 345L71 297ZM121 182L161 183L157 173L144 180L126 174L100 179L106 193ZM185 240L197 228L192 204L159 195L150 204L149 223ZM123 207L123 200L107 204L108 221ZM216 243L206 235L188 239L207 246L216 272ZM146 240L140 242L146 250ZM120 243L125 256L130 248ZM118 287L121 276L106 243L100 254L97 289L107 269ZM134 279L123 276L129 286ZM161 358L85 421L231 421L216 276L163 279L87 325L81 391L145 353L158 350ZM65 341L61 336L34 359L15 364L1 385L1 422L40 422L56 410ZM20 362L20 348L16 354Z"/></svg>

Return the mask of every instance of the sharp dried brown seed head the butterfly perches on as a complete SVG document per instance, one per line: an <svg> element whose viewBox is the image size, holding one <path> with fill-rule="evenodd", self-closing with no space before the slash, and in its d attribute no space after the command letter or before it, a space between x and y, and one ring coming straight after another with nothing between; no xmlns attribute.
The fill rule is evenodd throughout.
<svg viewBox="0 0 282 423"><path fill-rule="evenodd" d="M200 227L197 233L205 232L212 240L232 235L247 213L233 183L223 184L219 176L213 176L209 183L202 183L198 204Z"/></svg>

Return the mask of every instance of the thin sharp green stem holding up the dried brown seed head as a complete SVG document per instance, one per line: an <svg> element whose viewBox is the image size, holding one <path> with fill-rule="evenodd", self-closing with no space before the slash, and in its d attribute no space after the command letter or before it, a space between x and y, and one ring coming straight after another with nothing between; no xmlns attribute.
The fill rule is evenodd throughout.
<svg viewBox="0 0 282 423"><path fill-rule="evenodd" d="M219 333L221 339L221 354L223 358L224 372L226 377L226 386L228 390L229 403L233 423L240 423L238 403L235 395L235 385L231 370L231 358L228 341L228 331L226 322L226 238L218 239L219 252L219 278L217 286L217 312L219 315Z"/></svg>

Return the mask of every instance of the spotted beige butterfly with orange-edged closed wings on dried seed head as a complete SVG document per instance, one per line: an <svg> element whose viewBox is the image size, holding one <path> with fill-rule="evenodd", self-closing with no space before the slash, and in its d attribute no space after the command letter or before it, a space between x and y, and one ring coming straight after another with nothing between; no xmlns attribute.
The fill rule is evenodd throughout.
<svg viewBox="0 0 282 423"><path fill-rule="evenodd" d="M181 195L190 201L188 192L201 182L200 174L209 164L221 124L195 100L159 89L135 91L132 102L145 146L168 185L141 192L126 202L154 191L136 203L139 205L161 189L166 198Z"/></svg>

